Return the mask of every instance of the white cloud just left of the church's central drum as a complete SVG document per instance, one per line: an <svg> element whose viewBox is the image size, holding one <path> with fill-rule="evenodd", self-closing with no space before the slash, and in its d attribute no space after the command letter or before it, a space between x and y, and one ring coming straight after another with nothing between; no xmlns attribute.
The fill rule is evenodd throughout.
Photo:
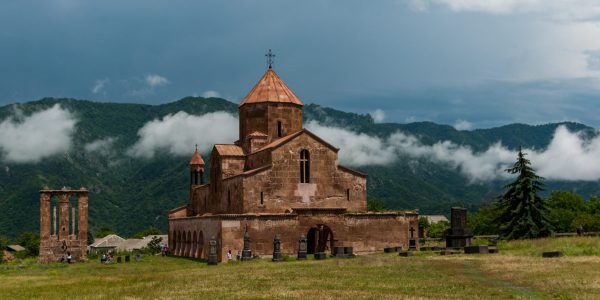
<svg viewBox="0 0 600 300"><path fill-rule="evenodd" d="M195 144L206 153L214 144L231 143L237 135L238 119L229 113L196 116L180 111L144 124L138 131L139 140L128 154L144 158L152 158L157 151L191 155Z"/></svg>

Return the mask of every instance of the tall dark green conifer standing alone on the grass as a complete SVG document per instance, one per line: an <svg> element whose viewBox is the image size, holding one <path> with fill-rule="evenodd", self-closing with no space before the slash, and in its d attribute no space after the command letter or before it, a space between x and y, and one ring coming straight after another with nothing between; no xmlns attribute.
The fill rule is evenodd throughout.
<svg viewBox="0 0 600 300"><path fill-rule="evenodd" d="M543 237L552 230L545 202L538 195L543 190L543 178L535 173L526 155L519 148L517 161L506 169L509 174L518 174L517 179L504 187L506 192L497 203L501 210L497 223L506 239Z"/></svg>

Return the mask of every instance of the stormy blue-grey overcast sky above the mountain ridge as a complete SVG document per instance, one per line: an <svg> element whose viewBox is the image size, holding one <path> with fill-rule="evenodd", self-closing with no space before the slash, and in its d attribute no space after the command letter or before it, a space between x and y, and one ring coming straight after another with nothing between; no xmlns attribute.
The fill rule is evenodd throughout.
<svg viewBox="0 0 600 300"><path fill-rule="evenodd" d="M600 127L600 1L0 2L0 105L239 101L274 68L383 122Z"/></svg>

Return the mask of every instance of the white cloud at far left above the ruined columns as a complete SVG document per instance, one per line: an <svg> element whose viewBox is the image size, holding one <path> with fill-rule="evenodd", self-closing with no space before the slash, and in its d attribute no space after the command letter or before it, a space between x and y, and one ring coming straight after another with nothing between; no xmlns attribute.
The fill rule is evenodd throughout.
<svg viewBox="0 0 600 300"><path fill-rule="evenodd" d="M0 123L0 152L8 162L38 162L71 148L77 120L55 104L20 120L14 116Z"/></svg>

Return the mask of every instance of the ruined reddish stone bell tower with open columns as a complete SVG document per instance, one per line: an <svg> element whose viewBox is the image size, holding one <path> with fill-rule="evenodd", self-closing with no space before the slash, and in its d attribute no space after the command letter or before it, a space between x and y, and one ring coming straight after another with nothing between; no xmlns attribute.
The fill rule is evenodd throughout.
<svg viewBox="0 0 600 300"><path fill-rule="evenodd" d="M69 198L77 197L77 209ZM52 199L58 198L52 207ZM51 210L52 207L52 210ZM71 209L69 209L71 208ZM52 213L52 214L51 214ZM58 214L58 215L57 215ZM40 190L40 255L39 262L57 262L70 253L73 261L87 259L88 190Z"/></svg>

